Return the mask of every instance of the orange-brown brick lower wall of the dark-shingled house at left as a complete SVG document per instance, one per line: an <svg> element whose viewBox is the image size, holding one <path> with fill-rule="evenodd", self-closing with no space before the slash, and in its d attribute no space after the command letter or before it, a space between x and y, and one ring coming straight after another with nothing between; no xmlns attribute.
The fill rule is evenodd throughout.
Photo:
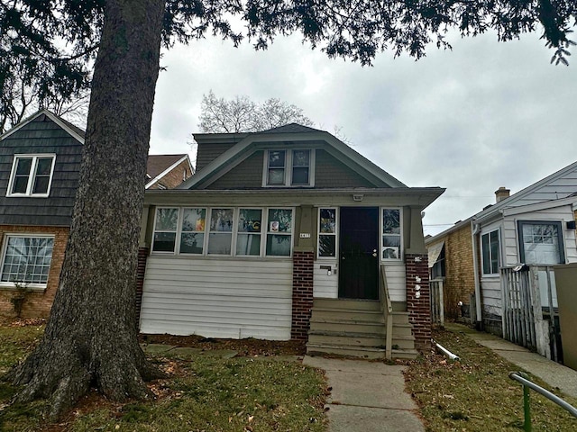
<svg viewBox="0 0 577 432"><path fill-rule="evenodd" d="M40 234L54 236L52 259L46 289L30 293L23 306L23 318L48 318L54 295L60 282L60 269L64 261L64 251L69 239L68 227L24 227L21 225L0 225L0 251L4 251L5 234ZM0 257L0 260L2 257ZM14 307L10 299L14 290L0 287L0 315L15 317Z"/></svg>

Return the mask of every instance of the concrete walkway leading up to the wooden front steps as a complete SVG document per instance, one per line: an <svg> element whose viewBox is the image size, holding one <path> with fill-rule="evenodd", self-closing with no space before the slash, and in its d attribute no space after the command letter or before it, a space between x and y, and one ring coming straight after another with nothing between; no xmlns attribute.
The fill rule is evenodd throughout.
<svg viewBox="0 0 577 432"><path fill-rule="evenodd" d="M417 405L405 392L405 366L311 356L303 363L324 369L332 387L330 432L425 432Z"/></svg>

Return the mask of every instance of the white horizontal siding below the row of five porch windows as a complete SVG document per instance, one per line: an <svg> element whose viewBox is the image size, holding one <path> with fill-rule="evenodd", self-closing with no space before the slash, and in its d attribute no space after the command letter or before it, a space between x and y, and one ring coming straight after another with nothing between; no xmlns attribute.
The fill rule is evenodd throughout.
<svg viewBox="0 0 577 432"><path fill-rule="evenodd" d="M141 331L289 340L291 260L148 258Z"/></svg>

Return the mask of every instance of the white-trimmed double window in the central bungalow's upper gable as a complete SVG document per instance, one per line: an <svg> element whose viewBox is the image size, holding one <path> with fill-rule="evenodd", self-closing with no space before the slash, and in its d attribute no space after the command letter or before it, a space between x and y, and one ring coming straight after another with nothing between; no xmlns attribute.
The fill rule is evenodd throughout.
<svg viewBox="0 0 577 432"><path fill-rule="evenodd" d="M310 149L267 150L263 186L314 185L314 158Z"/></svg>

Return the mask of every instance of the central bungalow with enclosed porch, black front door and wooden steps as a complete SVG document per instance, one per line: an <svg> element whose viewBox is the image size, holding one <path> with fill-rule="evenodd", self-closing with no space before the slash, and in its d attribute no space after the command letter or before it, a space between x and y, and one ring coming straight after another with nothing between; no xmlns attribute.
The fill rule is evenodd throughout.
<svg viewBox="0 0 577 432"><path fill-rule="evenodd" d="M145 194L142 332L361 356L426 346L421 212L444 189L408 187L294 123L195 139L197 173Z"/></svg>

